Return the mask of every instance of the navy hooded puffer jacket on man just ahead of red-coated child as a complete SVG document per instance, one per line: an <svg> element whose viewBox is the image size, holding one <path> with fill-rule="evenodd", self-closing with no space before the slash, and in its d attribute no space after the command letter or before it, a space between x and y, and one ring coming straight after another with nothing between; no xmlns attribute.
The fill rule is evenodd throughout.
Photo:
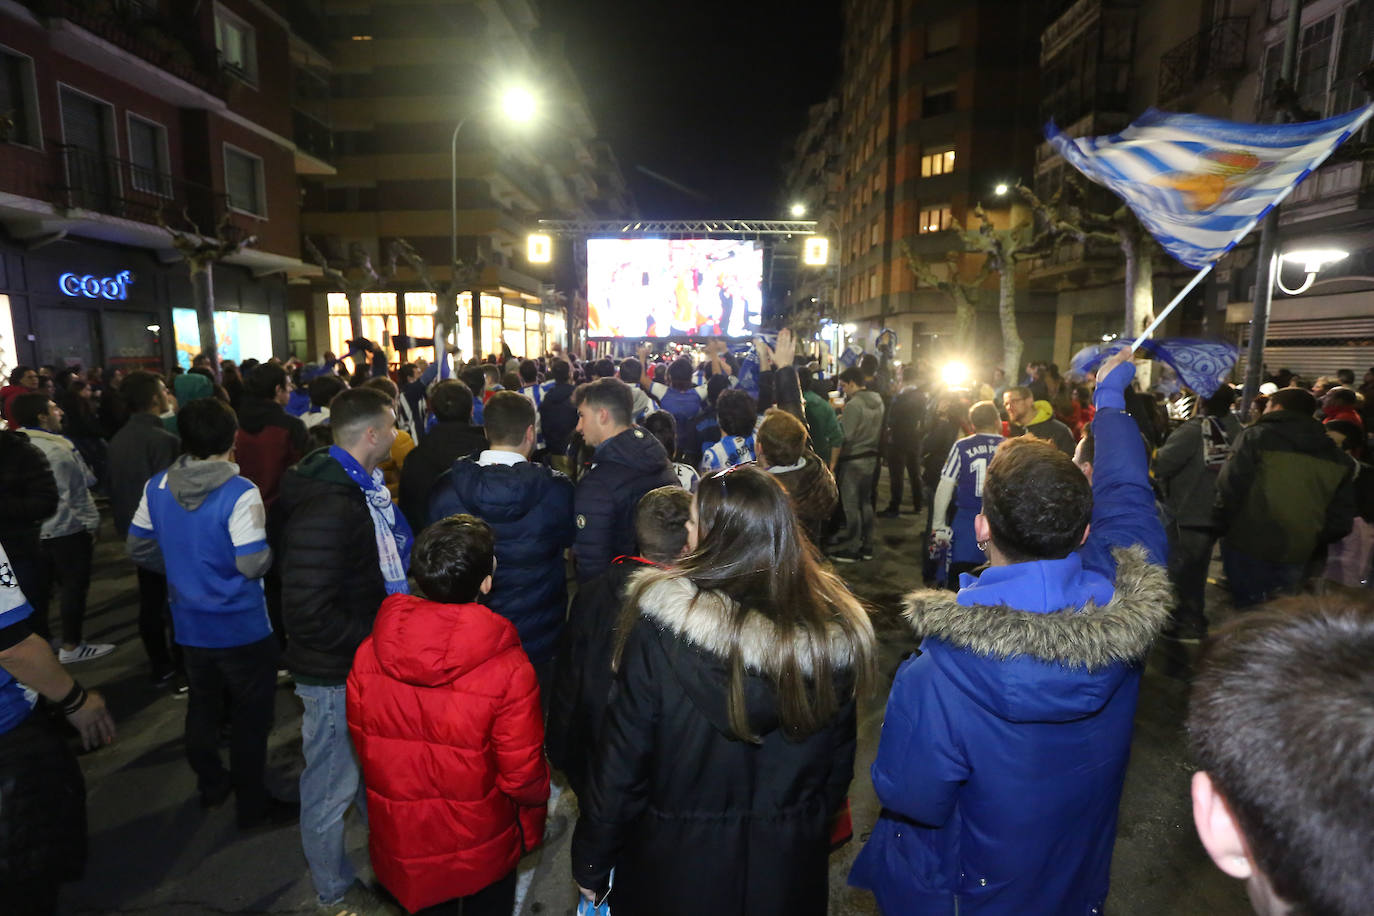
<svg viewBox="0 0 1374 916"><path fill-rule="evenodd" d="M430 518L467 512L496 534L486 606L515 625L534 665L554 656L567 610L563 551L572 547L573 482L543 464L453 461L430 496Z"/></svg>

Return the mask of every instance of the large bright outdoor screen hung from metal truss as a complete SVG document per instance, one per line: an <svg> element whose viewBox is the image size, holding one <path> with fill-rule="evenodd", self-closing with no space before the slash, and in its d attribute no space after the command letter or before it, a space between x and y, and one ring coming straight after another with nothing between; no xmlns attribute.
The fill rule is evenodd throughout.
<svg viewBox="0 0 1374 916"><path fill-rule="evenodd" d="M757 242L588 239L587 336L753 336L763 276Z"/></svg>

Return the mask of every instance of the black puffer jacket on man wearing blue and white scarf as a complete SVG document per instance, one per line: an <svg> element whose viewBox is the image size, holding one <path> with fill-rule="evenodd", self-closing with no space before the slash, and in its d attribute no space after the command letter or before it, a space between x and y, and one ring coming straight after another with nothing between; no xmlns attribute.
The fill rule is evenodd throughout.
<svg viewBox="0 0 1374 916"><path fill-rule="evenodd" d="M344 684L386 597L367 500L330 450L319 449L286 472L271 512L272 552L282 558L286 666Z"/></svg>

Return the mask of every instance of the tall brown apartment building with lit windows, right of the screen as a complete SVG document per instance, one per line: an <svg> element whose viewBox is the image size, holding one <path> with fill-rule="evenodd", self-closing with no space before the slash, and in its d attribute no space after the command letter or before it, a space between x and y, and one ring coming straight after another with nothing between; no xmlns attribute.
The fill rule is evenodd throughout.
<svg viewBox="0 0 1374 916"><path fill-rule="evenodd" d="M853 336L896 332L900 358L949 352L954 305L919 287L905 251L938 262L960 247L951 228L984 205L1006 225L998 185L1029 180L1039 137L1039 38L1043 3L849 0L840 87L840 313ZM959 271L973 276L971 255ZM980 309L984 350L995 361L996 282ZM1024 287L1024 284L1022 284ZM1021 301L1024 299L1024 301ZM1028 354L1048 349L1052 312L1018 293Z"/></svg>

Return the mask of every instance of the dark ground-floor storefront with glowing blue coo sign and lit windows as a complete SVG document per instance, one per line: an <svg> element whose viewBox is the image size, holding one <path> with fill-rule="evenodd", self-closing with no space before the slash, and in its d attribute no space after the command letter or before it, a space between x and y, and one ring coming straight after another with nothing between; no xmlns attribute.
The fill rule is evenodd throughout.
<svg viewBox="0 0 1374 916"><path fill-rule="evenodd" d="M216 328L225 358L267 358L286 343L286 282L214 268ZM190 314L190 320L187 316ZM177 328L184 339L173 332ZM190 328L190 330L188 330ZM166 371L199 352L184 262L84 239L29 250L0 246L0 365ZM231 357L231 353L240 354Z"/></svg>

